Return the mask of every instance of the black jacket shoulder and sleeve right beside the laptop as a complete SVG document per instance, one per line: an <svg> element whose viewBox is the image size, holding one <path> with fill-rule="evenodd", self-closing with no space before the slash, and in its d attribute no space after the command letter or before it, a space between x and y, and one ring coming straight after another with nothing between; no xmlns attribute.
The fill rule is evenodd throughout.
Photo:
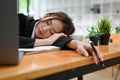
<svg viewBox="0 0 120 80"><path fill-rule="evenodd" d="M19 19L19 48L33 48L35 39L31 38L34 24L37 20L22 13L18 14Z"/></svg>

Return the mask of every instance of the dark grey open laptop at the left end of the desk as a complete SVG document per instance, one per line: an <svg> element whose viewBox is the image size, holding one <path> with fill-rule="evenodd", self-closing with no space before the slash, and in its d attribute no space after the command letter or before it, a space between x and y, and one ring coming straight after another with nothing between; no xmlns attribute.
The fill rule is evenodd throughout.
<svg viewBox="0 0 120 80"><path fill-rule="evenodd" d="M23 52L18 51L17 0L0 0L0 65L18 64Z"/></svg>

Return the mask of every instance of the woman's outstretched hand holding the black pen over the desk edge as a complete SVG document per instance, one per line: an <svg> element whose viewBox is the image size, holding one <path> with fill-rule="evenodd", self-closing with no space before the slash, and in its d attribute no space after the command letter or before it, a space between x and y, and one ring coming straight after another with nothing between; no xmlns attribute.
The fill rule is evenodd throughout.
<svg viewBox="0 0 120 80"><path fill-rule="evenodd" d="M100 53L99 49L94 46L97 52L97 55L95 55L95 52L92 49L92 46L88 43L78 42L77 43L77 49L76 51L84 56L89 56L92 54L94 61L96 64L98 64L98 60L100 59L103 61L102 54ZM99 59L98 59L99 58Z"/></svg>

